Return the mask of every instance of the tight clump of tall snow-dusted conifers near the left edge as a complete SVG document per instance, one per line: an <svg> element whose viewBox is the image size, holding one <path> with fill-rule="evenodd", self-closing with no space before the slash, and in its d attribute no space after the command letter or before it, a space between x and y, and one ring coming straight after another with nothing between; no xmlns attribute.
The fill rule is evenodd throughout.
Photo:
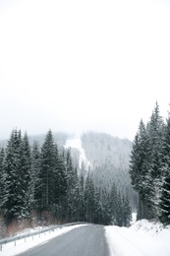
<svg viewBox="0 0 170 256"><path fill-rule="evenodd" d="M11 138L8 142L5 156L6 172L6 193L5 218L7 223L13 219L23 219L28 217L28 180L29 169L25 161L27 150L26 137L22 139L21 131L15 129L12 131Z"/></svg>

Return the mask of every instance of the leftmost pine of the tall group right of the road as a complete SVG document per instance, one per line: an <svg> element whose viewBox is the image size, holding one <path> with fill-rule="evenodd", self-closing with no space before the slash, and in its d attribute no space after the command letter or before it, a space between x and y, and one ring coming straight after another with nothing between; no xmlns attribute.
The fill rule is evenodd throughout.
<svg viewBox="0 0 170 256"><path fill-rule="evenodd" d="M141 120L139 131L133 143L133 151L130 161L130 175L133 188L139 193L138 220L148 218L147 184L148 173L148 134Z"/></svg>

